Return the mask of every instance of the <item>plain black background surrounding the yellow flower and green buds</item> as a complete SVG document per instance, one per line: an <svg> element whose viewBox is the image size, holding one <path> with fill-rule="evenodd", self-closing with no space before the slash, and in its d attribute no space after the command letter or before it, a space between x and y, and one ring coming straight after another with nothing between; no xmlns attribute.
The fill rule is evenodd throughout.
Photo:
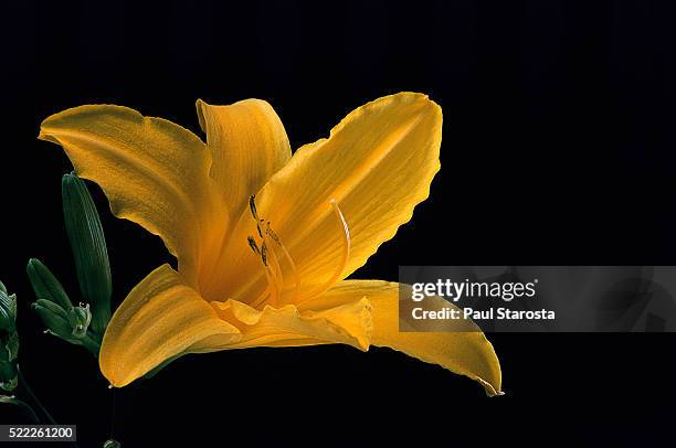
<svg viewBox="0 0 676 448"><path fill-rule="evenodd" d="M357 277L398 265L676 265L676 7L652 1L3 2L0 278L20 360L81 446L669 446L673 334L493 334L506 396L402 354L348 346L187 356L109 391L83 350L41 334L39 257L76 299L62 151L66 107L113 103L199 131L194 100L260 97L292 146L399 92L444 111L429 201ZM115 298L169 260L104 213ZM7 408L3 408L7 413ZM14 422L13 414L4 422ZM97 445L98 444L98 445Z"/></svg>

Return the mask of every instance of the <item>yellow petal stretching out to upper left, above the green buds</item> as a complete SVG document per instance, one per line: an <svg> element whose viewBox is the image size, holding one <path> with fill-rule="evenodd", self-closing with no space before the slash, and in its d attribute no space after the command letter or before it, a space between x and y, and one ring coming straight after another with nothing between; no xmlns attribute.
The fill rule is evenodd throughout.
<svg viewBox="0 0 676 448"><path fill-rule="evenodd" d="M64 148L76 173L103 188L116 216L159 235L194 281L200 257L220 244L225 225L209 179L211 153L197 136L134 109L96 105L52 115L39 138Z"/></svg>

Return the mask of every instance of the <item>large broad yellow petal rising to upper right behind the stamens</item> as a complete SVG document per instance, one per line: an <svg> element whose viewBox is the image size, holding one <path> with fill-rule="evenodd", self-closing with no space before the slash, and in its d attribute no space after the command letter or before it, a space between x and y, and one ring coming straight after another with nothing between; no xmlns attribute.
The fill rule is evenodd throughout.
<svg viewBox="0 0 676 448"><path fill-rule="evenodd" d="M265 184L256 196L260 215L285 244L305 287L345 278L411 218L440 168L441 134L441 108L425 95L383 97L349 114L328 139L300 148ZM345 266L331 200L350 231ZM246 243L253 225L247 214L239 222L221 260L224 280L205 289L208 298L254 300L264 290L261 262Z"/></svg>

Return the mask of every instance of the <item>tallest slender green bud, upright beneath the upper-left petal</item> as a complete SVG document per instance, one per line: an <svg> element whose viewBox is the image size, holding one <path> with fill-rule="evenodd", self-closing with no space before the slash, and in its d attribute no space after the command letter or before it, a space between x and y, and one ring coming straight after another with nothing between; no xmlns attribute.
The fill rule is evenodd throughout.
<svg viewBox="0 0 676 448"><path fill-rule="evenodd" d="M101 220L85 183L74 173L61 181L65 220L77 281L92 303L92 329L103 335L110 320L110 265Z"/></svg>

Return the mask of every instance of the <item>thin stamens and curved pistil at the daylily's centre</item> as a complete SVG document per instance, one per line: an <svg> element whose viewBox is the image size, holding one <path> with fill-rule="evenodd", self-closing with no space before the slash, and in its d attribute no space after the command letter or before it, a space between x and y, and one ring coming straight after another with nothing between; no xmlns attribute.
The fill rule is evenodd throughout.
<svg viewBox="0 0 676 448"><path fill-rule="evenodd" d="M251 247L251 249L261 258L261 262L263 263L263 268L265 269L265 277L267 278L267 288L252 303L253 307L261 306L262 303L267 301L271 301L275 305L279 303L279 298L285 287L285 275L284 269L282 267L284 260L286 260L287 269L291 271L287 273L287 276L288 274L291 274L291 276L294 278L294 294L296 296L294 302L296 303L311 300L316 297L321 296L340 279L340 276L342 275L342 271L345 270L345 267L347 266L348 259L350 257L350 228L348 226L347 220L345 218L345 215L338 206L338 202L335 199L331 199L329 201L329 205L332 207L334 215L340 223L340 228L342 231L341 255L338 260L336 270L328 280L326 280L321 285L311 287L307 291L300 294L300 288L303 285L294 258L292 257L286 246L284 246L284 244L282 243L279 236L271 227L270 221L263 220L258 216L255 195L252 195L249 199L249 207L251 210L251 214L256 221L257 237L250 235L246 239L249 241L249 246ZM277 250L281 252L281 257L277 254Z"/></svg>

